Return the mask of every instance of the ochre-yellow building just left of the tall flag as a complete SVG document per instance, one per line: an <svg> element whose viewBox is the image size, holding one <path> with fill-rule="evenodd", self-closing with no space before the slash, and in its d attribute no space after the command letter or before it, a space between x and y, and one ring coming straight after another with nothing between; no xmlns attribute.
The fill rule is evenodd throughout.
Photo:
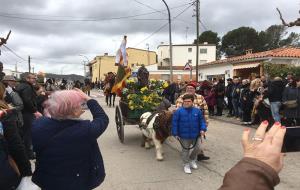
<svg viewBox="0 0 300 190"><path fill-rule="evenodd" d="M107 53L101 56L96 56L90 63L90 73L92 82L104 80L105 74L108 72L117 73L118 67L115 66L115 56L109 56Z"/></svg>

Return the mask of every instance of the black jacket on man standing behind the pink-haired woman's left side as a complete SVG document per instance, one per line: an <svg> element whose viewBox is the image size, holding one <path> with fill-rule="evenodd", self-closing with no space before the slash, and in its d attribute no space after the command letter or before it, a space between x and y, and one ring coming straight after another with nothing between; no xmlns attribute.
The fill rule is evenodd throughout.
<svg viewBox="0 0 300 190"><path fill-rule="evenodd" d="M19 93L23 100L23 113L35 113L37 110L37 95L33 86L27 81L21 81L16 87L16 91Z"/></svg>

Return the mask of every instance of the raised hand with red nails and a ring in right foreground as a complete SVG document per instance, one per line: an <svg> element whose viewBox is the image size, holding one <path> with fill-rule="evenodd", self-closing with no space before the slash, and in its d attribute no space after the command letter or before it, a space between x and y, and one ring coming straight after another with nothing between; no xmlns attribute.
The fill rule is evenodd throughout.
<svg viewBox="0 0 300 190"><path fill-rule="evenodd" d="M268 121L262 122L251 140L249 140L250 129L244 130L242 137L244 157L260 160L279 173L283 167L284 154L281 153L281 149L286 128L276 122L266 132L267 126Z"/></svg>

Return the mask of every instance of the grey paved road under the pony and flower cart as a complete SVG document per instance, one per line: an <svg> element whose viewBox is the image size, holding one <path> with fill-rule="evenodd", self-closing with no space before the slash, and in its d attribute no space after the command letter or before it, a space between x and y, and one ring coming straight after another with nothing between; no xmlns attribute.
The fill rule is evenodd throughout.
<svg viewBox="0 0 300 190"><path fill-rule="evenodd" d="M222 184L226 171L242 157L243 127L212 120L203 145L211 159L201 162L192 175L184 174L176 141L170 139L163 145L165 160L162 162L155 160L154 149L140 147L141 133L137 126L125 126L125 143L121 144L114 123L115 108L107 107L104 97L96 99L110 118L108 129L98 140L107 173L99 190L215 190ZM91 118L91 115L86 112L84 117ZM300 153L286 156L280 177L276 190L300 189Z"/></svg>

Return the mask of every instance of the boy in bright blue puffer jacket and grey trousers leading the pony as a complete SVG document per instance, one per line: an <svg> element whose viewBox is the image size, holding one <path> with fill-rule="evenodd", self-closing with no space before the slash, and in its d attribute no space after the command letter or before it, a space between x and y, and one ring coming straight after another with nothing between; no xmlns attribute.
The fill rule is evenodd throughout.
<svg viewBox="0 0 300 190"><path fill-rule="evenodd" d="M186 94L182 99L183 106L173 114L172 135L181 142L184 172L191 174L191 168L198 168L196 158L200 152L200 138L205 136L206 123L201 110L193 107L194 96ZM195 147L190 153L193 145Z"/></svg>

